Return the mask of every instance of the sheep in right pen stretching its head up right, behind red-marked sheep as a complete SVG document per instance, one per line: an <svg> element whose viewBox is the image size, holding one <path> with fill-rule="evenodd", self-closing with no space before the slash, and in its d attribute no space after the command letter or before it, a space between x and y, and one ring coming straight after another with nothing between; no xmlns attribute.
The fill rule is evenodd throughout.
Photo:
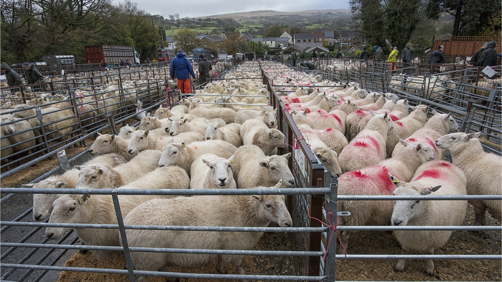
<svg viewBox="0 0 502 282"><path fill-rule="evenodd" d="M408 138L413 132L424 127L427 121L427 106L418 105L405 118L394 121L394 128L389 129L387 133L387 142L385 144L387 156L392 156L394 147L399 143L399 139Z"/></svg>

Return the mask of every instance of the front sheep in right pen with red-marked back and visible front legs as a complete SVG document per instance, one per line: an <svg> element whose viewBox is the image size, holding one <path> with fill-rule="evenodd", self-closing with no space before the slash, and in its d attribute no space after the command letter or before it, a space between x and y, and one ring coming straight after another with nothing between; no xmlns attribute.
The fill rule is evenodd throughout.
<svg viewBox="0 0 502 282"><path fill-rule="evenodd" d="M389 174L396 183L394 195L466 195L466 179L464 173L451 163L432 161L425 163L417 170L412 182L406 183ZM462 225L467 209L467 202L455 200L397 200L392 213L394 226L456 226ZM401 254L407 255L410 250L433 254L435 248L442 247L450 238L451 230L433 231L394 231L401 244ZM395 272L403 271L406 259L400 259L394 268ZM425 272L434 276L434 262L428 259Z"/></svg>

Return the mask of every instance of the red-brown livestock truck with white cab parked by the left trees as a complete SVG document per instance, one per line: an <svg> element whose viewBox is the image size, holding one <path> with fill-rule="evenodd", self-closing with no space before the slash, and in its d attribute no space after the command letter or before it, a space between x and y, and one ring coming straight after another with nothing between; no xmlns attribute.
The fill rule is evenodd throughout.
<svg viewBox="0 0 502 282"><path fill-rule="evenodd" d="M85 46L85 62L114 67L121 61L130 60L140 64L140 55L134 46L88 45Z"/></svg>

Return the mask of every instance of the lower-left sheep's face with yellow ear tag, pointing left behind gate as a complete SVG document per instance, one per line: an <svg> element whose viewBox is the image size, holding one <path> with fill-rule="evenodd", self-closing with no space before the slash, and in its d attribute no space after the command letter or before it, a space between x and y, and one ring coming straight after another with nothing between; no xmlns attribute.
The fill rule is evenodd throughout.
<svg viewBox="0 0 502 282"><path fill-rule="evenodd" d="M63 195L54 201L50 223L87 223L83 222L87 199L90 195ZM85 206L84 206L85 205ZM51 240L61 238L71 227L47 227L45 236Z"/></svg>

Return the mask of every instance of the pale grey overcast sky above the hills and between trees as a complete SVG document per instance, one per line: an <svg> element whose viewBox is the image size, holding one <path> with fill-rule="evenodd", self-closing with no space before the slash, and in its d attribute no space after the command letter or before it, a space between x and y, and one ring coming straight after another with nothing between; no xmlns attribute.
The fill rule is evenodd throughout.
<svg viewBox="0 0 502 282"><path fill-rule="evenodd" d="M134 0L133 0L134 1ZM121 1L114 1L121 2ZM199 18L203 16L239 13L258 10L275 10L279 12L295 12L304 10L324 9L349 9L348 0L289 0L283 4L273 4L270 0L235 1L235 0L210 0L200 2L166 2L159 0L138 1L138 8L152 15L161 15L168 18L176 13L183 17Z"/></svg>

